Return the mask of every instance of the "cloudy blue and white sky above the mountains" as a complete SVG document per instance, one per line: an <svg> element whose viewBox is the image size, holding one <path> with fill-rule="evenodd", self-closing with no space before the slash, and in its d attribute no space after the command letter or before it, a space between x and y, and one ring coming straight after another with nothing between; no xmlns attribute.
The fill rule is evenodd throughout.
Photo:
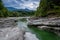
<svg viewBox="0 0 60 40"><path fill-rule="evenodd" d="M13 7L16 9L36 10L40 0L2 0L5 7Z"/></svg>

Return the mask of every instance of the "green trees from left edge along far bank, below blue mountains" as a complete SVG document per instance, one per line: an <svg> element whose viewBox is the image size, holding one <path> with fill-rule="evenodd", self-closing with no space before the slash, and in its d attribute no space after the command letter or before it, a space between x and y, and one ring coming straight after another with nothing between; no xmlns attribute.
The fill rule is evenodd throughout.
<svg viewBox="0 0 60 40"><path fill-rule="evenodd" d="M4 7L2 0L0 0L0 17L19 17L19 16L32 16L34 11L9 11Z"/></svg>

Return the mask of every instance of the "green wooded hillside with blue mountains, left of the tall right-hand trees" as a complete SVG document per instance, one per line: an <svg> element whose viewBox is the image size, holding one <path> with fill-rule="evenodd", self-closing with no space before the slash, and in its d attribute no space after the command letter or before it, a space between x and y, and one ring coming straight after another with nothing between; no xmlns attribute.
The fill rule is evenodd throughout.
<svg viewBox="0 0 60 40"><path fill-rule="evenodd" d="M28 9L15 9L12 7L4 7L2 0L0 0L0 17L20 17L32 16L34 11Z"/></svg>

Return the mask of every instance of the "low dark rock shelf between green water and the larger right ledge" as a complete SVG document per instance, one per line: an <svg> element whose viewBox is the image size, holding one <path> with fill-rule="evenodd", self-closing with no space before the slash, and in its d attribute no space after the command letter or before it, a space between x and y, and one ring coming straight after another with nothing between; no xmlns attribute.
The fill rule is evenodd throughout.
<svg viewBox="0 0 60 40"><path fill-rule="evenodd" d="M60 27L49 27L49 26L38 26L39 29L54 32L55 34L60 36Z"/></svg>

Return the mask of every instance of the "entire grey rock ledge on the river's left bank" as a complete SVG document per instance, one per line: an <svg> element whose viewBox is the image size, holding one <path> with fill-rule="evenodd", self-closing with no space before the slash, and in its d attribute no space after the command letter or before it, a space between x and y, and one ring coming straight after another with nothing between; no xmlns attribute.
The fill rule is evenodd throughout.
<svg viewBox="0 0 60 40"><path fill-rule="evenodd" d="M0 40L23 40L24 32L16 25L13 18L0 18Z"/></svg>

